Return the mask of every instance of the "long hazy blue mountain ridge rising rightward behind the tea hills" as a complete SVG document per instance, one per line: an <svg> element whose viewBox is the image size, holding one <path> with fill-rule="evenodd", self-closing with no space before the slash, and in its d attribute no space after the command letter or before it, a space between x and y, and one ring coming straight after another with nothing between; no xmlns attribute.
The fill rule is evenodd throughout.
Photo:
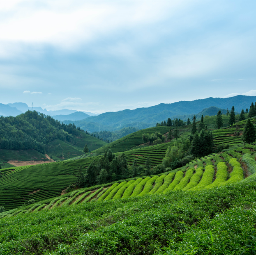
<svg viewBox="0 0 256 255"><path fill-rule="evenodd" d="M242 109L249 109L251 102L256 102L256 96L238 95L231 98L210 97L194 101L174 102L171 104L161 103L148 108L106 112L99 116L90 116L82 121L74 122L74 124L79 125L80 128L83 128L84 130L89 130L89 123L94 123L95 130L91 130L92 132L97 131L98 125L109 126L108 130L110 130L111 127L118 128L120 125L122 128L127 126L138 126L139 128L141 123L143 123L143 128L145 128L145 125L152 126L153 123L161 122L167 118L176 118L177 116L180 116L180 118L183 119L189 114L197 114L203 111L203 109L212 106L225 110L227 108L231 110L232 106L234 106L235 111L240 112ZM91 124L90 127L92 128Z"/></svg>

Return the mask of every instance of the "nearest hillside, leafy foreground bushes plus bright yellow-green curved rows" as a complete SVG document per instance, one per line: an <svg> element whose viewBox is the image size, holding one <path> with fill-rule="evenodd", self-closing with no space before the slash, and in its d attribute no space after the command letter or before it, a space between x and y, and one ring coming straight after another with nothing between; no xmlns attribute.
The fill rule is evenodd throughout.
<svg viewBox="0 0 256 255"><path fill-rule="evenodd" d="M161 175L58 198L51 198L58 186L35 190L29 197L37 203L0 214L0 248L7 254L221 255L239 247L254 254L255 150L235 146Z"/></svg>

